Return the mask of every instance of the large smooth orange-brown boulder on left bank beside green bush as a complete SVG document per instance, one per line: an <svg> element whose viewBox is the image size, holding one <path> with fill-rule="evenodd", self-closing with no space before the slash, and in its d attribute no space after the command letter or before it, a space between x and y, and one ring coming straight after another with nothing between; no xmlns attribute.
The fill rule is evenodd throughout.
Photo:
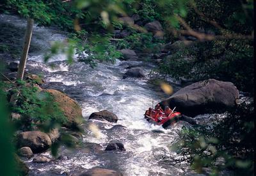
<svg viewBox="0 0 256 176"><path fill-rule="evenodd" d="M54 89L47 89L45 91L49 92L54 97L54 101L58 103L65 117L67 117L67 126L72 126L72 124L81 124L83 119L82 109L74 99Z"/></svg>

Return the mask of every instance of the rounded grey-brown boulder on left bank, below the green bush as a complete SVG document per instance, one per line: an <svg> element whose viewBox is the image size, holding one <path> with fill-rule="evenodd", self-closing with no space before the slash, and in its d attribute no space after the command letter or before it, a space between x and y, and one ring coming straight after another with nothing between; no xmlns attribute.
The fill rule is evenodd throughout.
<svg viewBox="0 0 256 176"><path fill-rule="evenodd" d="M47 150L51 144L51 138L42 131L26 131L17 135L17 145L30 147L34 153Z"/></svg>

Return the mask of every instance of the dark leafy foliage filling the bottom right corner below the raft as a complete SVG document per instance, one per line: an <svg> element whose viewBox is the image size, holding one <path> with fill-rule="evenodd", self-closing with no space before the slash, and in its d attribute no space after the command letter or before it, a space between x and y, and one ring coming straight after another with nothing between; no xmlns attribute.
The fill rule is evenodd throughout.
<svg viewBox="0 0 256 176"><path fill-rule="evenodd" d="M172 145L177 156L166 162L176 165L188 161L199 173L204 167L211 167L213 175L227 168L234 170L236 175L253 175L253 103L244 104L225 117L216 115L214 121L206 125L182 128L180 138Z"/></svg>

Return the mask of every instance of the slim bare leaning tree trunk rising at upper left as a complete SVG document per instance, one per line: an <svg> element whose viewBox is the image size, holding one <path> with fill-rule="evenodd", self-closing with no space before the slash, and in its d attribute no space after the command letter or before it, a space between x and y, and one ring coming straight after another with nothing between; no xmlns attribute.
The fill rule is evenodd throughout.
<svg viewBox="0 0 256 176"><path fill-rule="evenodd" d="M30 45L31 36L32 36L33 24L34 24L34 20L31 18L28 18L25 40L24 40L22 55L20 57L18 73L17 73L17 79L20 79L20 80L23 79L23 75L24 75L24 70L25 70L27 57L28 57L29 45Z"/></svg>

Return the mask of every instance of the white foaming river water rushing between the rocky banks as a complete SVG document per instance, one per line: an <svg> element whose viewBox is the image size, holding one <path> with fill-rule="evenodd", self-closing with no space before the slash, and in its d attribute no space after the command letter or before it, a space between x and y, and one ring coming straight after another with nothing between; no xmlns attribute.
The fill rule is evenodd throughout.
<svg viewBox="0 0 256 176"><path fill-rule="evenodd" d="M10 15L0 17L1 22L12 24L17 31L24 31L26 27L26 20ZM83 147L75 150L61 147L60 159L52 158L50 152L39 154L52 158L49 163L36 164L32 162L33 158L24 159L30 168L29 175L66 175L95 166L118 170L124 175L194 175L185 163L170 166L158 162L161 154L170 152L169 147L181 126L188 124L178 122L171 129L163 129L143 119L152 101L161 101L161 93L153 91L147 84L154 64L116 61L115 64L100 63L97 68L90 68L77 61L72 65L66 64L64 54L56 55L45 64L44 53L51 41L63 41L65 38L65 34L56 29L35 26L26 69L30 73L42 73L46 87L67 93L81 105L86 121ZM144 64L147 77L123 79L128 64ZM100 110L115 113L117 124L126 128L112 128L116 124L110 122L88 121L90 114ZM88 128L92 123L99 126L98 137ZM126 151L104 151L109 142L124 143Z"/></svg>

